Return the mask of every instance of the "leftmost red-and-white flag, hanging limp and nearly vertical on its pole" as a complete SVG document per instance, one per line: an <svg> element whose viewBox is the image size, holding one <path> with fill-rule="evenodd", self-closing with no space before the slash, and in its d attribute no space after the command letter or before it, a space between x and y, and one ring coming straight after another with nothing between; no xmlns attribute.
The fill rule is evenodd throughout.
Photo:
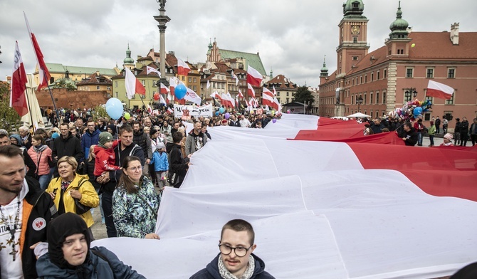
<svg viewBox="0 0 477 279"><path fill-rule="evenodd" d="M11 75L10 107L13 107L20 116L28 113L26 103L26 79L23 59L19 50L19 42L15 41L14 73Z"/></svg>

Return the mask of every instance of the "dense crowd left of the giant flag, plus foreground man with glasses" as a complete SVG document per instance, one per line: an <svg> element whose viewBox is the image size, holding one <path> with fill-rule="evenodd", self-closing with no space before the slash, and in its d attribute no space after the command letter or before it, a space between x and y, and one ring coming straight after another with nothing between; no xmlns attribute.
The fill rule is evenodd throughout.
<svg viewBox="0 0 477 279"><path fill-rule="evenodd" d="M261 128L272 120L239 113L191 117L186 133L182 120L167 114L135 111L127 120L95 121L91 113L63 111L59 119L45 113L51 130L0 130L0 164L6 166L0 170L0 242L8 243L0 250L1 278L143 278L107 249L90 249L93 209L100 207L108 237L159 240L154 231L162 191L182 185L190 158L211 140L207 128ZM251 254L249 223L224 226L221 239L221 260L194 278L273 278Z"/></svg>

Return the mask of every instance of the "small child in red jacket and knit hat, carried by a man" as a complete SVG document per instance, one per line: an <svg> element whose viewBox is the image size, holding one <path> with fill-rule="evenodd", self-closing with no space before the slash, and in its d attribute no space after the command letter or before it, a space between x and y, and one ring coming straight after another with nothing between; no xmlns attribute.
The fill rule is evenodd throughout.
<svg viewBox="0 0 477 279"><path fill-rule="evenodd" d="M115 166L115 147L117 147L117 141L113 141L110 132L101 132L99 143L95 147L95 177L99 177L103 172L120 169L120 167Z"/></svg>

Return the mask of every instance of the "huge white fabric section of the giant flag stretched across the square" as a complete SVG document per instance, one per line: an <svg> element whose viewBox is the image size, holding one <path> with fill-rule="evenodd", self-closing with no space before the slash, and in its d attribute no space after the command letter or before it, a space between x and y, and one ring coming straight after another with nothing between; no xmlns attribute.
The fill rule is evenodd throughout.
<svg viewBox="0 0 477 279"><path fill-rule="evenodd" d="M221 226L239 218L276 278L436 278L477 259L476 202L363 169L347 144L283 139L311 122L287 115L269 129L209 129L181 189L164 191L161 240L93 245L147 278L188 278L219 253Z"/></svg>

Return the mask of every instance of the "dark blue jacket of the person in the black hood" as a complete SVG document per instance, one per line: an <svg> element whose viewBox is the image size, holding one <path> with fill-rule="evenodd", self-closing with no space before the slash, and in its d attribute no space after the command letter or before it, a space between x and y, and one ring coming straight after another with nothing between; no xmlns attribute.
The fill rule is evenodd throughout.
<svg viewBox="0 0 477 279"><path fill-rule="evenodd" d="M108 261L91 252L92 250L98 251L102 256L107 258ZM38 277L45 279L145 278L137 273L136 270L133 270L129 265L122 263L114 253L104 247L93 247L88 253L88 258L85 260L85 263L76 267L75 270L59 268L54 263L51 263L50 255L46 253L38 258L38 261L36 262L36 272L38 273Z"/></svg>

